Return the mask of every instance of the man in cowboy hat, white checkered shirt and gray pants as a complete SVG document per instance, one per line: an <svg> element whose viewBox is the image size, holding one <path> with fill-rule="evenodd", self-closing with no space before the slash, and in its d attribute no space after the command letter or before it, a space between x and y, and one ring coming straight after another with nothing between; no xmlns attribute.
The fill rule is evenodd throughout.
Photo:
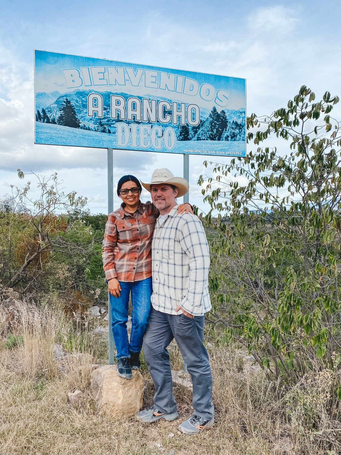
<svg viewBox="0 0 341 455"><path fill-rule="evenodd" d="M175 338L193 383L194 414L179 426L187 435L214 422L212 375L203 344L205 313L211 309L208 293L210 254L201 221L192 214L179 215L176 197L189 189L188 182L168 169L156 169L151 192L160 211L152 241L152 309L143 341L143 353L155 384L154 405L137 413L143 422L178 417L168 345Z"/></svg>

